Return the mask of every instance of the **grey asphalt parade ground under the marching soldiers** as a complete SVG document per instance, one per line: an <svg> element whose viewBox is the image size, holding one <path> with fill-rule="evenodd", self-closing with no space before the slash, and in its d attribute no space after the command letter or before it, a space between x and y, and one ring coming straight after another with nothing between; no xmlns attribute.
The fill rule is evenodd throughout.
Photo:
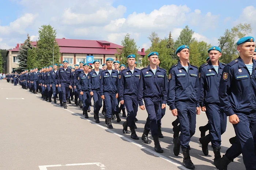
<svg viewBox="0 0 256 170"><path fill-rule="evenodd" d="M92 100L93 101L93 100ZM92 102L93 104L93 102ZM0 81L0 170L186 170L182 165L182 151L173 154L172 121L176 119L166 109L162 119L162 133L159 138L164 152L154 150L151 144L141 140L146 110L138 111L139 140L123 134L123 122L112 120L113 129L106 127L100 111L101 123L93 119L93 107L89 119L84 119L82 109L67 104L68 109L41 99L21 86ZM205 156L199 142L199 126L207 123L204 112L197 115L196 133L192 137L190 156L196 170L214 170L214 153L209 144L209 155ZM206 132L208 133L208 132ZM233 126L227 122L222 135L222 155L231 146L229 138L235 136ZM245 170L242 155L231 162L228 169Z"/></svg>

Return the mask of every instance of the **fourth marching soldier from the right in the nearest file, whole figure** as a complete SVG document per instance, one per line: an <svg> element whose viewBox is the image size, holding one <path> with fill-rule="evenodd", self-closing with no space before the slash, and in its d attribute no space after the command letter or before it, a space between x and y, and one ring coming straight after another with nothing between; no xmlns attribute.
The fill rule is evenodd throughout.
<svg viewBox="0 0 256 170"><path fill-rule="evenodd" d="M167 100L167 79L166 79L166 70L157 66L158 53L151 52L148 54L149 65L143 68L140 72L140 80L138 86L138 102L140 109L144 110L146 107L148 117L146 124L144 126L144 131L142 135L142 140L144 143L150 144L148 140L148 133L151 131L151 135L154 139L155 151L162 153L163 150L159 143L158 138L158 114L159 105L161 103L161 98L163 103L161 108L166 107ZM145 106L143 104L143 101ZM150 125L148 125L150 124ZM150 129L148 129L150 127Z"/></svg>

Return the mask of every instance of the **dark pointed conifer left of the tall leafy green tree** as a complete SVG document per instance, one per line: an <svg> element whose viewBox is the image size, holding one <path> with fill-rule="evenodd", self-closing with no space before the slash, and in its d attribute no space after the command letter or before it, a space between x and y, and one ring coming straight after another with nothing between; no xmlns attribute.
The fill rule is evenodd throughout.
<svg viewBox="0 0 256 170"><path fill-rule="evenodd" d="M19 72L22 72L27 69L27 51L32 49L30 36L27 34L27 39L24 44L19 48L19 54L17 55L19 59L19 68L17 69Z"/></svg>

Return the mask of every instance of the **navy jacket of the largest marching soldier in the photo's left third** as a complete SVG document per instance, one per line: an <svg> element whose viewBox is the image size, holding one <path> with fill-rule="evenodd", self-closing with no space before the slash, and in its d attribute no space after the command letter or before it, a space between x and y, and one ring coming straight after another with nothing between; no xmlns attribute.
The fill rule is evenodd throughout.
<svg viewBox="0 0 256 170"><path fill-rule="evenodd" d="M72 86L73 85L73 78L71 69L67 68L66 71L64 68L60 68L59 75L57 78L57 83L59 84L65 84L66 86Z"/></svg>

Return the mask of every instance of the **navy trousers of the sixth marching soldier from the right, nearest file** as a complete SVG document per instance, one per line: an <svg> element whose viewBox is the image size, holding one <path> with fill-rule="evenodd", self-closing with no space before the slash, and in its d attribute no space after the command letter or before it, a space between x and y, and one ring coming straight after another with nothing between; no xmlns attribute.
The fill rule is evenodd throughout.
<svg viewBox="0 0 256 170"><path fill-rule="evenodd" d="M112 114L114 114L114 109L116 105L116 93L103 93L105 96L105 103L106 103L106 117L111 118Z"/></svg>

